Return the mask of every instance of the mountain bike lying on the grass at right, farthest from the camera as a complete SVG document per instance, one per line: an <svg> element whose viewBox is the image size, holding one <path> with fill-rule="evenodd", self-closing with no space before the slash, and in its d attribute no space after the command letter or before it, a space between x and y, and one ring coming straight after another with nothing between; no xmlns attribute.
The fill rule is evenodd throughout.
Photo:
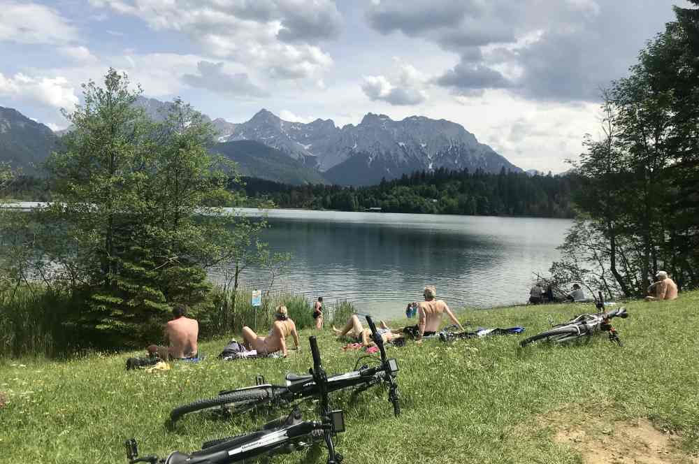
<svg viewBox="0 0 699 464"><path fill-rule="evenodd" d="M558 324L548 331L538 333L533 337L522 340L519 342L519 345L521 347L526 347L526 345L540 340L556 343L568 342L585 336L589 337L601 331L609 333L610 341L617 342L621 347L622 344L621 340L619 340L619 334L617 330L612 327L612 324L610 324L610 319L614 317L626 319L626 317L628 317L628 312L626 312L625 307L605 312L605 303L601 291L598 292L598 296L599 299L595 300L598 310L596 314L580 314L578 317L575 317L575 319L571 319L564 324Z"/></svg>

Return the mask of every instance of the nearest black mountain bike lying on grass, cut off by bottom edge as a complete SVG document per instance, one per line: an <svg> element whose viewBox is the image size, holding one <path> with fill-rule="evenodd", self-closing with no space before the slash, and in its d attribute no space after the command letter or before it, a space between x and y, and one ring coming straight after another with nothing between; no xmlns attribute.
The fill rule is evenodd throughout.
<svg viewBox="0 0 699 464"><path fill-rule="evenodd" d="M341 410L331 411L328 396L328 377L320 361L320 353L315 337L310 337L310 349L313 354L313 368L310 370L312 383L317 386L317 396L321 401L321 418L319 421L301 420L297 407L289 416L267 423L261 430L212 440L202 445L200 451L183 454L175 451L166 458L157 456L138 457L138 444L131 438L127 440L127 459L129 464L230 464L258 458L287 454L309 447L313 442L325 440L328 448L328 464L339 464L343 456L335 451L333 436L345 431L345 418Z"/></svg>

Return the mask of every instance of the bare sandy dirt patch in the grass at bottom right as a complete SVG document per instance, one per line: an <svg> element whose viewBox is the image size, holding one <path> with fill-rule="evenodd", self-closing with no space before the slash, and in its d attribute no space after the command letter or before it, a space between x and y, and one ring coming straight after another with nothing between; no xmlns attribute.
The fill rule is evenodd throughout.
<svg viewBox="0 0 699 464"><path fill-rule="evenodd" d="M699 457L679 449L679 435L658 430L647 419L610 421L583 414L571 423L559 412L543 418L542 425L554 428L554 440L579 451L586 464L699 464Z"/></svg>

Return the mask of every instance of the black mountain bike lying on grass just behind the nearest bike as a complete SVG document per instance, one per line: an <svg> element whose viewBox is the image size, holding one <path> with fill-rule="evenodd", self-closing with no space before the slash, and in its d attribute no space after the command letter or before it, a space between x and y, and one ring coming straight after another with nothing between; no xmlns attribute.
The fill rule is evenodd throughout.
<svg viewBox="0 0 699 464"><path fill-rule="evenodd" d="M357 360L352 372L333 375L327 380L329 392L352 389L352 394L356 395L378 384L387 384L389 388L389 401L393 404L394 414L401 414L401 405L398 400L398 384L396 374L398 372L398 362L394 358L387 358L384 343L376 331L376 326L370 316L366 316L366 321L371 329L373 342L380 351L380 358L376 356L362 356ZM373 367L362 365L358 367L359 361L370 359L376 363ZM264 377L258 377L258 384L242 389L224 390L219 392L215 398L198 400L189 405L175 407L170 413L170 426L185 414L192 412L220 412L224 415L240 414L261 406L282 407L289 405L295 400L317 396L320 386L311 375L287 374L286 385L265 384Z"/></svg>

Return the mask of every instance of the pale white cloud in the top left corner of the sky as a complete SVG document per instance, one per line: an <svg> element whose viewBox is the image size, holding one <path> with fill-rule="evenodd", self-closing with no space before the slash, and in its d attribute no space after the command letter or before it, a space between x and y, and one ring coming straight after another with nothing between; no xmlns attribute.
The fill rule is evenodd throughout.
<svg viewBox="0 0 699 464"><path fill-rule="evenodd" d="M0 0L0 41L62 44L75 38L75 27L56 10L31 2Z"/></svg>

